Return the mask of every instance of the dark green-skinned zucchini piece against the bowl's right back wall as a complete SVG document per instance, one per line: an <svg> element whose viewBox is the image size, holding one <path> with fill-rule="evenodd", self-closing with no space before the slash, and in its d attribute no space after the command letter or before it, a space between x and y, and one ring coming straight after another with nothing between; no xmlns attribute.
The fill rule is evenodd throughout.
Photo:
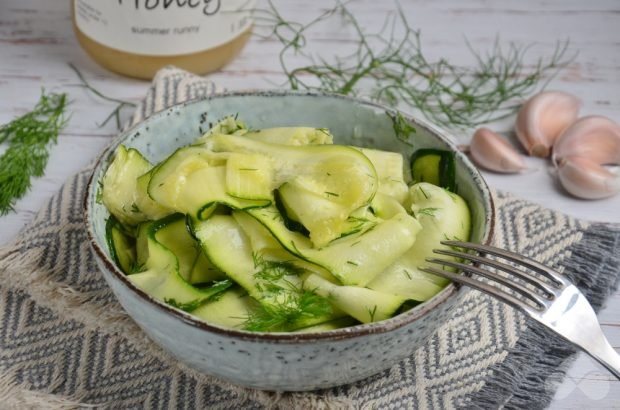
<svg viewBox="0 0 620 410"><path fill-rule="evenodd" d="M411 156L413 182L428 182L456 192L456 165L452 151L422 148Z"/></svg>

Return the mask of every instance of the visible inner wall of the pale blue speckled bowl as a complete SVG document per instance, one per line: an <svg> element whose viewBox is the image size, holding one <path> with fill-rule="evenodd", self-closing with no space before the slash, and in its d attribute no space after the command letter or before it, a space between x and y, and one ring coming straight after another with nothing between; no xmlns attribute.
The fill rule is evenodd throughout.
<svg viewBox="0 0 620 410"><path fill-rule="evenodd" d="M415 129L409 140L404 142L406 135L398 132L398 126L395 127L395 119L398 119L400 114L394 110L337 95L271 91L221 94L176 105L153 115L121 135L100 158L86 198L88 229L96 248L100 250L100 257L103 252L108 262L111 260L105 241L105 224L109 214L105 206L96 201L98 181L101 180L116 146L122 143L136 148L152 163L157 163L176 148L193 142L219 119L231 114L237 114L250 128L329 128L335 143L401 152L407 159L418 148L453 150L456 152L458 194L468 202L472 212L471 240L481 243L490 241L494 209L489 189L476 168L458 152L441 130L403 114L401 118ZM111 262L106 265L116 275L124 276ZM453 286L450 285L440 295L453 291ZM441 296L435 296L438 297ZM419 305L404 315L415 318L416 315L423 314L424 305L426 304ZM182 312L174 309L170 311L184 316ZM184 319L187 320L186 317Z"/></svg>

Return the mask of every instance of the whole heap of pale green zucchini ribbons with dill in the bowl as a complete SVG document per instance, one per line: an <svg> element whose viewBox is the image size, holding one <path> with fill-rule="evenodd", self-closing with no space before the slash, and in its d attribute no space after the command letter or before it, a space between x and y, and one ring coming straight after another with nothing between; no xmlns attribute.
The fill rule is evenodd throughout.
<svg viewBox="0 0 620 410"><path fill-rule="evenodd" d="M332 142L229 116L155 168L119 147L103 180L112 257L151 296L252 331L369 323L432 297L447 281L419 267L471 229L454 154L416 151L408 188L402 155Z"/></svg>

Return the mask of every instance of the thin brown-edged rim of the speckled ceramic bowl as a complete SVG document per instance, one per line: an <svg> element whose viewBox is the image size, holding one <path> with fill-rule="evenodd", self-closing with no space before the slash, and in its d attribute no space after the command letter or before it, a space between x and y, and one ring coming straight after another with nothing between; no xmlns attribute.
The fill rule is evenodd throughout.
<svg viewBox="0 0 620 410"><path fill-rule="evenodd" d="M426 302L420 303L419 305L409 309L406 312L400 313L390 319L381 320L378 322L372 323L364 323L351 327L345 327L334 330L320 331L320 332L254 332L247 330L238 330L225 328L218 325L210 324L202 319L196 318L188 312L182 311L180 309L176 309L158 299L155 299L153 296L144 292L140 288L138 288L135 284L133 284L129 279L127 279L127 275L122 272L116 264L110 260L107 256L103 246L100 245L96 239L94 233L94 225L91 221L91 201L92 198L95 198L96 190L98 187L98 182L94 180L97 174L102 172L102 167L105 162L111 158L111 155L115 152L117 147L122 144L127 138L131 135L135 134L136 131L146 126L150 121L154 121L162 116L165 116L167 112L177 110L181 107L190 106L190 105L198 105L202 104L205 101L212 101L218 99L226 99L230 97L244 97L244 96L259 96L259 97L286 97L286 96L298 96L298 97L323 97L323 98L335 98L341 100L347 100L354 104L361 104L363 106L383 110L388 115L401 115L408 122L415 124L416 126L420 126L422 128L426 128L430 131L434 137L441 140L445 143L453 152L455 152L456 157L463 163L463 165L468 169L468 171L474 176L476 179L477 185L480 186L481 191L483 193L487 193L485 195L485 199L488 198L488 203L485 204L485 208L488 205L489 212L485 214L486 226L483 232L482 243L490 244L492 238L494 236L494 221L496 217L495 211L495 203L493 199L493 195L491 190L477 170L477 168L469 161L469 159L459 151L457 146L450 140L447 135L447 132L443 129L437 127L436 125L427 122L424 119L414 117L406 112L393 109L387 107L382 104L378 104L373 101L368 101L362 98L346 96L342 94L328 93L328 92L318 92L318 91L299 91L299 90L243 90L243 91L230 91L230 92L221 92L216 94L211 94L209 96L200 97L196 99L191 99L187 101L180 102L178 104L174 104L168 106L160 111L157 111L151 114L149 117L143 119L137 124L134 124L130 128L122 131L113 141L103 150L103 152L97 158L95 165L93 167L93 171L90 175L86 194L84 196L83 202L83 210L84 210L84 218L86 224L86 231L88 235L88 241L90 243L91 248L95 253L95 257L98 258L107 270L112 273L112 275L119 280L124 286L129 288L133 293L135 293L140 299L145 301L146 303L152 305L154 308L163 311L167 314L172 315L173 318L181 320L182 322L198 328L200 330L204 330L207 332L219 334L226 337L232 337L239 340L244 341L253 341L253 342L282 342L282 343L307 343L313 341L334 341L334 340L342 340L342 339L350 339L364 335L370 334L380 334L387 333L398 328L402 328L421 317L425 316L435 307L447 303L447 301L457 293L460 293L461 286L455 283L448 284L444 289L442 289L438 294L433 296L431 299ZM109 285L108 285L109 286ZM118 298L117 298L118 301Z"/></svg>

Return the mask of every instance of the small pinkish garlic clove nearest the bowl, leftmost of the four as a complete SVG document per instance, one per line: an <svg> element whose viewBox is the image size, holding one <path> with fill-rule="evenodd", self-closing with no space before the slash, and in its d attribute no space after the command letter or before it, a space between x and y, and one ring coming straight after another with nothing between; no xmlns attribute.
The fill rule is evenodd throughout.
<svg viewBox="0 0 620 410"><path fill-rule="evenodd" d="M483 168L506 174L524 170L525 160L508 141L488 128L479 128L469 144L469 154Z"/></svg>

